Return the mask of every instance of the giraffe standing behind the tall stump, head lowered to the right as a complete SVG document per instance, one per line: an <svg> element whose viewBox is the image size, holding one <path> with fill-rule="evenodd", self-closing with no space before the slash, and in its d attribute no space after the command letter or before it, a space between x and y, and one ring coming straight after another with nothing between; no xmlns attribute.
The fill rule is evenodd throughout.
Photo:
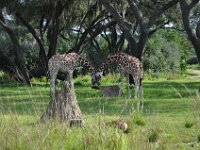
<svg viewBox="0 0 200 150"><path fill-rule="evenodd" d="M50 94L52 99L55 99L56 85L55 81L57 78L58 71L63 71L67 73L67 81L73 85L73 72L79 67L86 67L89 72L93 72L94 68L90 61L85 59L83 56L77 53L68 53L68 54L56 54L49 59L48 62L48 73L50 77Z"/></svg>

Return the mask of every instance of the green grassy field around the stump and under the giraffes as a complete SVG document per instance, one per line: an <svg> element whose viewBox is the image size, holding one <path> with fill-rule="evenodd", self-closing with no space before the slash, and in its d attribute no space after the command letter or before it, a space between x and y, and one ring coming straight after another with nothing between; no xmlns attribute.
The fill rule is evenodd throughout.
<svg viewBox="0 0 200 150"><path fill-rule="evenodd" d="M102 83L114 85L116 81L107 76ZM75 90L85 126L69 128L55 120L37 123L50 101L49 85L43 80L33 80L32 86L26 87L2 79L0 150L200 149L199 83L200 79L187 78L145 80L144 108L138 113L138 99L102 97L100 91L91 89L89 77L79 77ZM105 125L119 117L129 125L128 134Z"/></svg>

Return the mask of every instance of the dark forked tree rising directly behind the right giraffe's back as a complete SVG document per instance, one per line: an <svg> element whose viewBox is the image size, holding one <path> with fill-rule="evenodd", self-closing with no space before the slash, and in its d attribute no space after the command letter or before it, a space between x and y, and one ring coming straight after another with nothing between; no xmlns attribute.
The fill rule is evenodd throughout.
<svg viewBox="0 0 200 150"><path fill-rule="evenodd" d="M158 18L166 12L168 9L173 7L178 3L178 0L168 1L168 2L160 2L159 5L155 5L154 11L148 16L146 14L146 17L143 16L142 10L138 7L139 4L145 4L144 1L137 2L135 0L127 0L128 2L128 8L130 9L132 15L135 18L135 22L129 22L125 17L121 16L116 9L107 1L107 0L100 0L100 3L105 7L105 9L112 15L113 19L117 21L120 29L125 35L125 38L128 41L129 49L131 50L132 55L141 58L142 53L144 51L144 47L147 43L148 37L157 30L157 28L154 28L154 26L161 26L165 25L166 23L169 23L169 21L160 22L158 25ZM156 4L154 2L154 4ZM148 4L146 3L147 7L151 6L153 7L153 3ZM149 11L149 10L148 10ZM147 20L147 21L146 21ZM139 32L137 33L139 35L138 40L134 38L132 31L134 27L134 23L139 26Z"/></svg>

